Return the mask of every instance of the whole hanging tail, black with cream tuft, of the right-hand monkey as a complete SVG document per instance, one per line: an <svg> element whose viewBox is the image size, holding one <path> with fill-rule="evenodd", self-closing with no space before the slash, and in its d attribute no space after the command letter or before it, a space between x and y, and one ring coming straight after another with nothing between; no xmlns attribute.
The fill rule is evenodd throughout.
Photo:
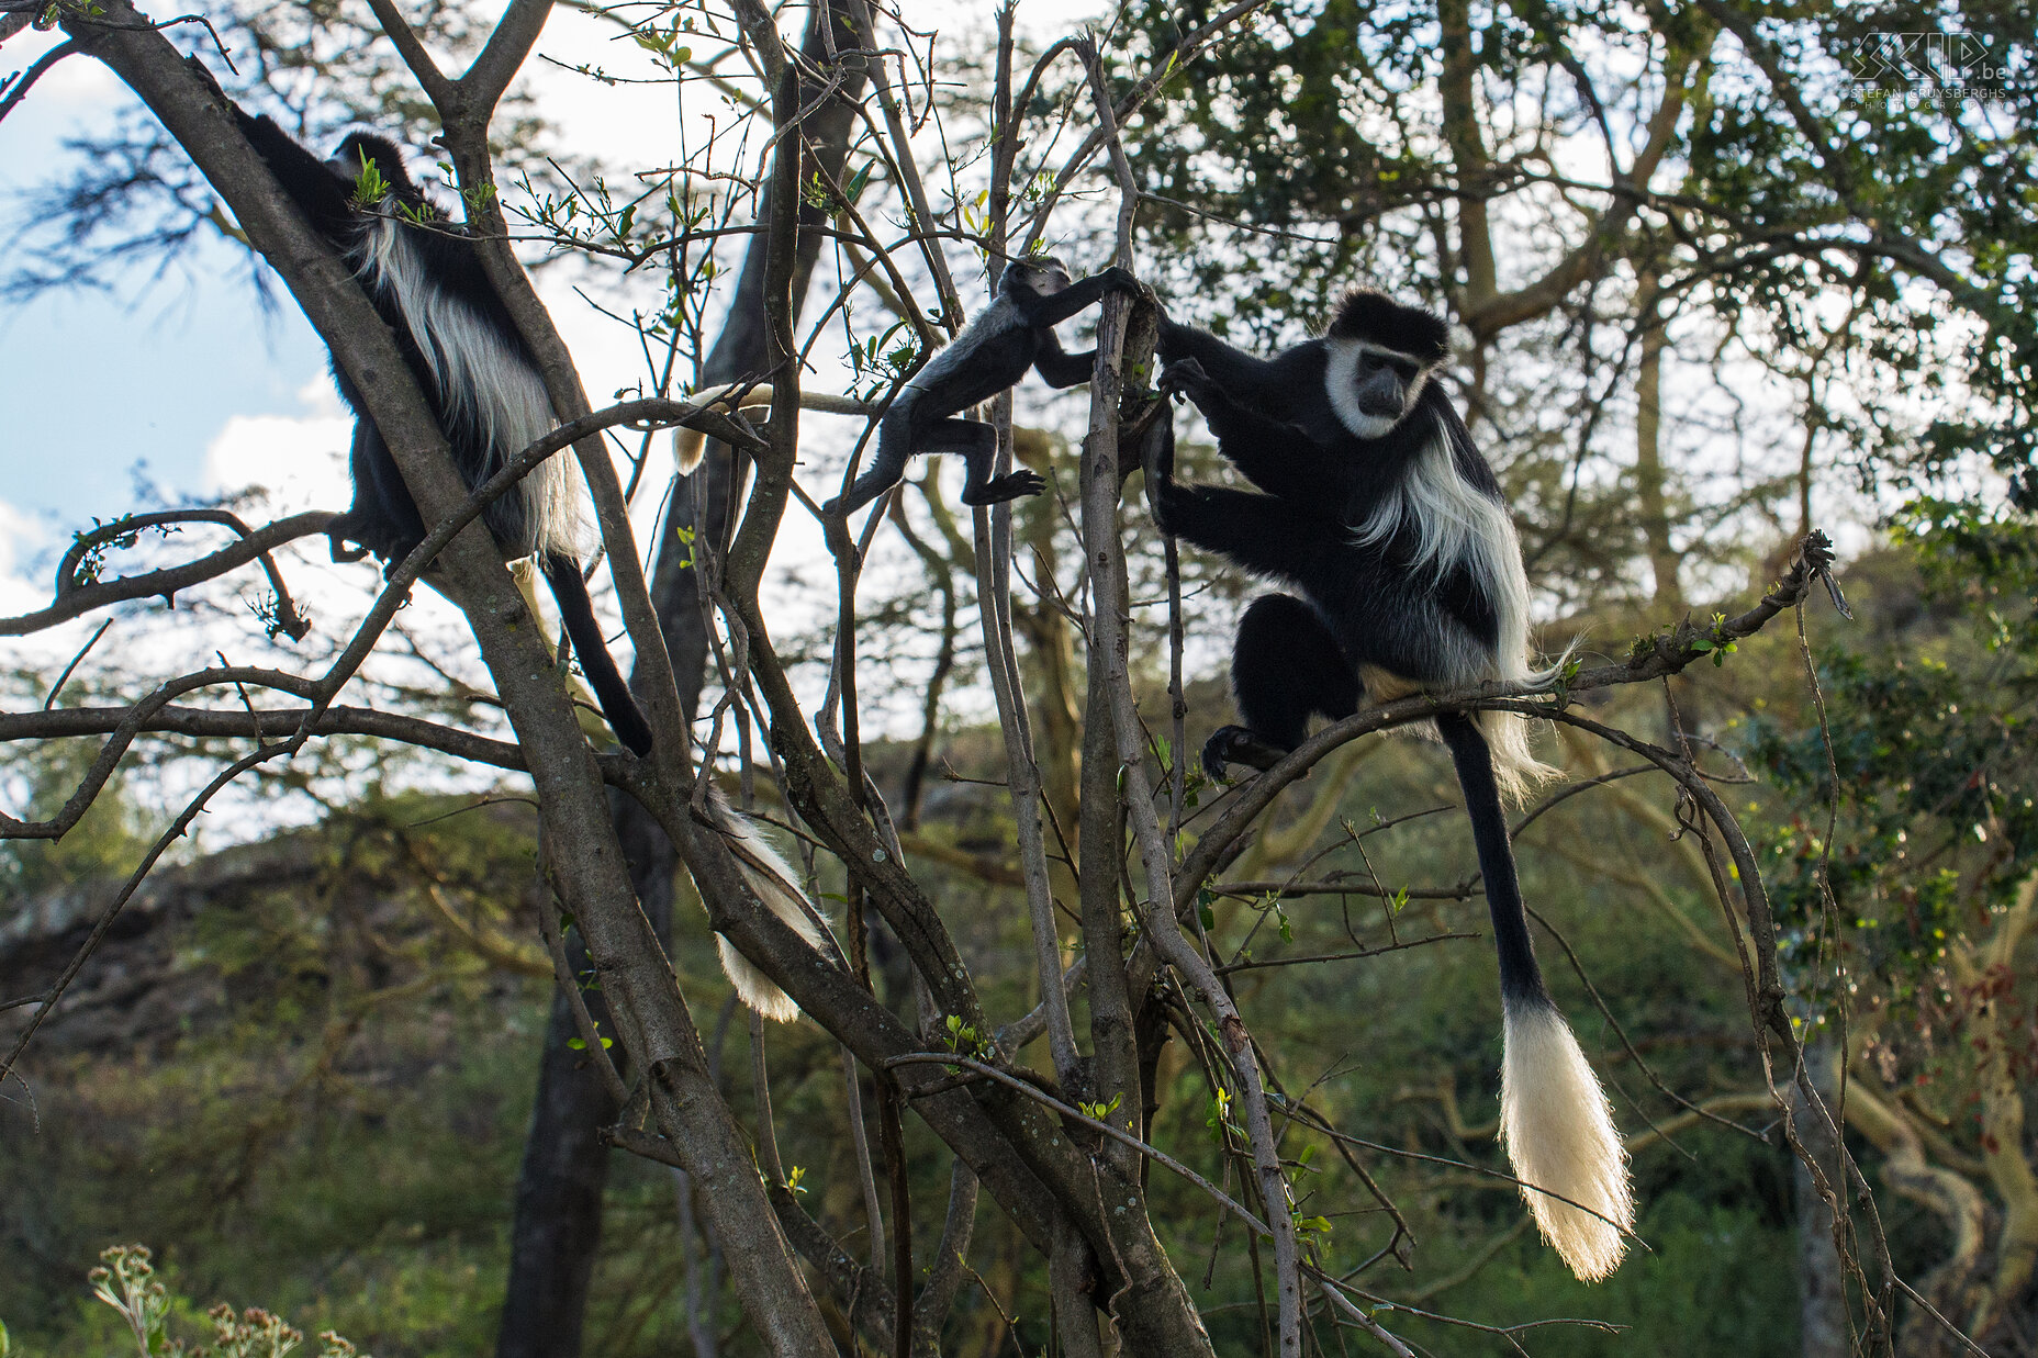
<svg viewBox="0 0 2038 1358"><path fill-rule="evenodd" d="M1437 732L1457 765L1500 952L1500 1136L1543 1238L1571 1272L1596 1283L1620 1264L1622 1236L1634 1230L1628 1154L1600 1081L1543 987L1486 736L1457 714L1437 718Z"/></svg>

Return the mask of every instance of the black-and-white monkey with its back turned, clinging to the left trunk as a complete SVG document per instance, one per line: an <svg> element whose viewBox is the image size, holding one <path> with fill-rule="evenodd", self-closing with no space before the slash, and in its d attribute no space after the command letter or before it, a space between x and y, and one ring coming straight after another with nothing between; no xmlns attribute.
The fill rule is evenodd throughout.
<svg viewBox="0 0 2038 1358"><path fill-rule="evenodd" d="M473 243L418 190L395 143L355 133L330 161L320 161L273 118L253 118L234 106L234 122L312 228L353 265L389 322L469 487L487 481L558 424L538 363L483 273ZM357 198L369 165L387 186L387 196L373 204ZM332 379L357 420L355 504L326 530L332 559L359 561L373 553L383 563L401 561L424 540L424 520L338 363ZM650 724L609 657L581 579L579 489L569 459L540 463L481 518L507 561L538 559L603 716L630 750L648 752Z"/></svg>

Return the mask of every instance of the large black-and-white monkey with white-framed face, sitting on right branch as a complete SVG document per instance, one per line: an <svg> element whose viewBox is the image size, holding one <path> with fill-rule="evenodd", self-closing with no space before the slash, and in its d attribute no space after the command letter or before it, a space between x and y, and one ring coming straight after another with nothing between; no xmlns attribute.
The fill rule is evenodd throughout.
<svg viewBox="0 0 2038 1358"><path fill-rule="evenodd" d="M1296 591L1262 595L1239 620L1241 726L1204 746L1213 775L1227 761L1272 767L1310 714L1345 718L1361 697L1539 677L1514 524L1431 379L1447 341L1439 316L1367 290L1343 300L1323 338L1272 359L1162 324L1162 387L1188 396L1219 453L1266 491L1176 483L1164 420L1151 467L1162 526ZM1604 1278L1634 1223L1626 1150L1543 987L1502 816L1502 793L1555 771L1528 752L1514 714L1441 716L1437 732L1457 765L1500 952L1508 1158L1524 1185L1557 1195L1522 1189L1543 1236L1579 1278Z"/></svg>

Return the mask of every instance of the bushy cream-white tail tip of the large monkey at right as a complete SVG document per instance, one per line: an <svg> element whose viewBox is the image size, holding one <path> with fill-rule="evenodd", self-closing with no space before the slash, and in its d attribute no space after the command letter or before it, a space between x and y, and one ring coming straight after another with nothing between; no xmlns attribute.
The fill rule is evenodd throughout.
<svg viewBox="0 0 2038 1358"><path fill-rule="evenodd" d="M1628 1250L1622 1232L1634 1230L1628 1152L1614 1132L1614 1109L1555 1005L1508 999L1502 1015L1500 1136L1508 1160L1543 1238L1571 1272L1598 1283Z"/></svg>

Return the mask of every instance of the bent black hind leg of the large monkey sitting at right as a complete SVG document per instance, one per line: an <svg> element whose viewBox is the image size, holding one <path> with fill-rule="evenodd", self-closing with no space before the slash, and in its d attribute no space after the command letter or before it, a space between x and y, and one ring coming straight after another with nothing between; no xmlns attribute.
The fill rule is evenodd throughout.
<svg viewBox="0 0 2038 1358"><path fill-rule="evenodd" d="M1239 618L1231 650L1231 695L1243 726L1225 726L1202 746L1202 767L1272 769L1308 738L1310 714L1339 720L1359 710L1359 677L1337 638L1302 599L1266 593Z"/></svg>

